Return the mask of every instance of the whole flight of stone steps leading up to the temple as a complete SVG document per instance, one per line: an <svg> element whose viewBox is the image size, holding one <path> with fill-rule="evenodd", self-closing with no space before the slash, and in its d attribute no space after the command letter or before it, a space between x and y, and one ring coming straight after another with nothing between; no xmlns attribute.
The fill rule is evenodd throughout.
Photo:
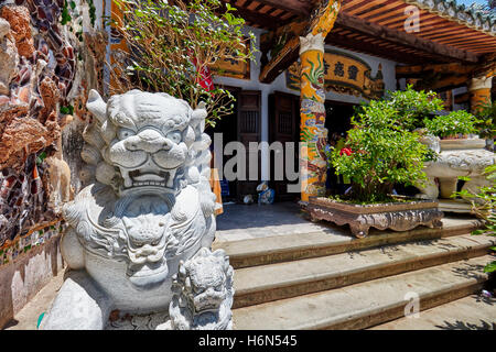
<svg viewBox="0 0 496 352"><path fill-rule="evenodd" d="M494 238L471 235L476 220L443 223L214 243L235 267L235 329L366 329L405 317L411 297L425 310L481 290Z"/></svg>

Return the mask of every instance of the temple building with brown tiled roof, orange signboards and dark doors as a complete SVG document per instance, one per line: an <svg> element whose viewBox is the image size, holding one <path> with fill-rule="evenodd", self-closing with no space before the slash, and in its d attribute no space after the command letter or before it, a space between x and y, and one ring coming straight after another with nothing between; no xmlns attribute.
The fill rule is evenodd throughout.
<svg viewBox="0 0 496 352"><path fill-rule="evenodd" d="M325 128L327 139L349 129L355 106L408 84L438 92L448 111L474 110L495 95L494 20L454 1L226 2L246 19L247 31L256 33L259 53L255 63L223 63L222 75L229 77L215 80L233 87L238 97L237 114L214 131L224 133L224 143L301 141L305 95L312 92L300 87L309 69L324 70L322 87L310 84L325 90L322 107L313 107L325 111L316 123L322 129L310 133L324 133ZM322 38L313 40L315 33ZM305 50L320 55L305 55ZM319 160L311 153L309 157ZM271 163L263 150L261 180L271 179ZM311 184L317 178L315 172L309 175ZM287 194L287 184L271 183L277 199L300 198ZM237 182L230 195L242 199L256 194L257 185Z"/></svg>

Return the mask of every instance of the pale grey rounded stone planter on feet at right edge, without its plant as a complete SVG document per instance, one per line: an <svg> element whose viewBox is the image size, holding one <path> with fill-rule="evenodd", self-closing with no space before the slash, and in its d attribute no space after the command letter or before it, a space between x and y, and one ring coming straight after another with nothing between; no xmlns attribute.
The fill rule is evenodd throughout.
<svg viewBox="0 0 496 352"><path fill-rule="evenodd" d="M493 165L496 158L494 153L485 150L485 140L440 140L431 136L425 138L422 143L434 150L439 157L424 165L428 182L417 186L421 191L418 195L419 198L450 199L451 195L456 191L460 176L471 178L465 183L463 189L474 194L478 193L479 187L489 184L483 175L484 169ZM439 180L439 186L435 179Z"/></svg>

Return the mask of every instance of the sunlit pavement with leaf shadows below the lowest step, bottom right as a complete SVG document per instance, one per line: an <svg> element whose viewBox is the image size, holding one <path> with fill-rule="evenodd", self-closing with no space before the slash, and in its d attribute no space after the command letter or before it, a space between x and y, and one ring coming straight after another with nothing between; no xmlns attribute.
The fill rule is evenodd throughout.
<svg viewBox="0 0 496 352"><path fill-rule="evenodd" d="M370 330L496 330L496 298L472 295Z"/></svg>

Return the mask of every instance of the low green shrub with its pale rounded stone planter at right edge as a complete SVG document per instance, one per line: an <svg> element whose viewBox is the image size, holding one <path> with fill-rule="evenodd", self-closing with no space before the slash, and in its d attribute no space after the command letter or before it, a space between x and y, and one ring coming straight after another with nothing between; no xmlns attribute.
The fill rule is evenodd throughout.
<svg viewBox="0 0 496 352"><path fill-rule="evenodd" d="M487 184L484 169L495 163L494 153L485 150L486 141L474 135L479 131L481 121L464 110L425 119L423 143L429 145L438 156L424 164L428 182L416 185L419 197L450 199L456 191L459 177L470 176L464 189L477 193L478 187ZM439 187L435 184L438 180ZM443 209L466 212L470 207L455 205L452 200L443 200Z"/></svg>

